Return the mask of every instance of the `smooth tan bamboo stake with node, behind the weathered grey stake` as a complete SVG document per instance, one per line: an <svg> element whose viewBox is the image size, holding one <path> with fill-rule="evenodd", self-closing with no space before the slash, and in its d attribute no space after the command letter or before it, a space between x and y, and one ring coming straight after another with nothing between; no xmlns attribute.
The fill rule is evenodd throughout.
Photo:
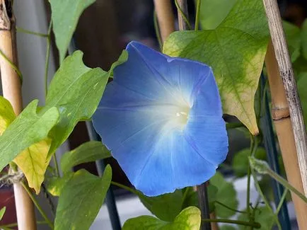
<svg viewBox="0 0 307 230"><path fill-rule="evenodd" d="M296 154L294 132L291 126L289 105L286 100L286 93L282 78L279 75L277 59L275 58L274 48L270 42L265 57L267 67L267 77L270 84L272 96L272 118L277 132L279 146L282 151L282 159L286 170L286 177L289 183L303 193L303 183L299 171L299 159ZM307 204L296 194L291 192L292 200L296 210L296 218L301 230L307 229Z"/></svg>

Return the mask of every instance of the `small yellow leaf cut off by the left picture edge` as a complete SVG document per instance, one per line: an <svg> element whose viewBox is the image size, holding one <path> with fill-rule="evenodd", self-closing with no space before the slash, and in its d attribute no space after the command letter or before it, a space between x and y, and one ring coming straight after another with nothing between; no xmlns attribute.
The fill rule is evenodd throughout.
<svg viewBox="0 0 307 230"><path fill-rule="evenodd" d="M6 130L8 125L10 125L15 118L16 115L11 103L0 96L0 135L3 134L4 130Z"/></svg>

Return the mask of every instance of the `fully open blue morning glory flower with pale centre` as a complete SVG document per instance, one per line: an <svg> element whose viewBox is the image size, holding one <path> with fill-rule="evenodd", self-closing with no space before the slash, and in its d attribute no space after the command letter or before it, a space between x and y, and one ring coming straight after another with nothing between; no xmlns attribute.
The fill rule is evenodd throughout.
<svg viewBox="0 0 307 230"><path fill-rule="evenodd" d="M93 125L130 182L147 196L209 180L228 152L212 69L130 42Z"/></svg>

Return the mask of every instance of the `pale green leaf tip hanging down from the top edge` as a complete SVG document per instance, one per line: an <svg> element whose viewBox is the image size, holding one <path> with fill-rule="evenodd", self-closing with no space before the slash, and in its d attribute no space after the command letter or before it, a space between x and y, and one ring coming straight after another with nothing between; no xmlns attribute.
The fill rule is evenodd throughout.
<svg viewBox="0 0 307 230"><path fill-rule="evenodd" d="M95 0L49 0L59 60L63 61L81 13Z"/></svg>

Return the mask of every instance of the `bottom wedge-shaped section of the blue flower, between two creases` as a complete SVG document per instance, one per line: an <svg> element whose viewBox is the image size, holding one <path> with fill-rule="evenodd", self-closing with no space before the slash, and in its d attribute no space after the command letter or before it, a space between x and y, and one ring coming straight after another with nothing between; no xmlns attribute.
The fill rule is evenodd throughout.
<svg viewBox="0 0 307 230"><path fill-rule="evenodd" d="M147 196L156 196L202 184L215 171L216 166L190 146L183 132L173 132L160 140L134 186Z"/></svg>

